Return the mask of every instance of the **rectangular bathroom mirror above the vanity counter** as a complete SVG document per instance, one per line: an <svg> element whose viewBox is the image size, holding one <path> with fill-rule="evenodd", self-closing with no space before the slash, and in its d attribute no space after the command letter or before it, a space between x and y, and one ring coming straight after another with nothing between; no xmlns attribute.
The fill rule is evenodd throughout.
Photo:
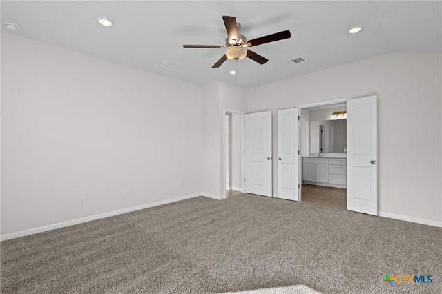
<svg viewBox="0 0 442 294"><path fill-rule="evenodd" d="M347 119L310 121L310 153L346 153Z"/></svg>

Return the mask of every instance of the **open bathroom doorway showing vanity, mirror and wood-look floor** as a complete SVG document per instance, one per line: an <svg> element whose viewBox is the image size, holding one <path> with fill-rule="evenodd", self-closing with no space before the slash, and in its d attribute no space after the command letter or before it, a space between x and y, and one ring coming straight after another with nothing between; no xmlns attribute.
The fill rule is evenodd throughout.
<svg viewBox="0 0 442 294"><path fill-rule="evenodd" d="M301 108L301 201L347 209L346 102Z"/></svg>

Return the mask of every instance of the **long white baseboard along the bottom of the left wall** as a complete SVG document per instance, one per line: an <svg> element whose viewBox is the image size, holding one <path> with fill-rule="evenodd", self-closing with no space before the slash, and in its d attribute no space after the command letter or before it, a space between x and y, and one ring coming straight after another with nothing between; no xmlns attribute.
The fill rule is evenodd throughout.
<svg viewBox="0 0 442 294"><path fill-rule="evenodd" d="M57 224L49 224L48 226L39 226L38 228L30 228L29 230L24 230L24 231L19 231L19 232L15 232L15 233L1 235L0 241L6 241L9 239L15 239L15 238L19 238L19 237L28 236L28 235L34 235L37 233L55 230L56 228L64 228L65 226L73 226L75 224L82 224L84 222L90 222L90 221L93 221L96 219L104 219L105 217L113 217L114 215L122 215L123 213L131 213L132 211L135 211L135 210L141 210L144 208L151 208L154 206L160 206L160 205L169 204L172 202L178 202L178 201L182 201L185 199L190 199L190 198L198 197L198 196L206 196L206 195L204 195L204 193L185 195L185 196L176 197L176 198L172 198L172 199L166 199L166 200L157 201L157 202L153 202L153 203L143 204L140 206L133 206L133 207L123 208L123 209L119 209L119 210L114 210L114 211L110 211L108 213L101 213L99 215L91 215L90 217L81 217L81 219L73 219L73 220L70 220L67 222L59 222ZM206 196L206 197L209 197L209 196Z"/></svg>

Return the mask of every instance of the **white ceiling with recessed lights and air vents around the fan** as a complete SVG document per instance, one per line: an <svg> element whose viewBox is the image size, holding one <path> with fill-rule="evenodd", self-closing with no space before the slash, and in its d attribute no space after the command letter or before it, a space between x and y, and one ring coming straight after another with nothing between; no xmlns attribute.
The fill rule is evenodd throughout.
<svg viewBox="0 0 442 294"><path fill-rule="evenodd" d="M15 35L160 75L249 88L390 52L441 52L441 10L441 1L1 1L1 22L19 26ZM269 62L238 61L235 79L235 61L211 68L224 49L182 48L224 45L222 15L236 17L247 39L282 30L291 39L253 47ZM355 25L362 32L349 35ZM295 57L305 61L286 62ZM159 68L166 60L183 67Z"/></svg>

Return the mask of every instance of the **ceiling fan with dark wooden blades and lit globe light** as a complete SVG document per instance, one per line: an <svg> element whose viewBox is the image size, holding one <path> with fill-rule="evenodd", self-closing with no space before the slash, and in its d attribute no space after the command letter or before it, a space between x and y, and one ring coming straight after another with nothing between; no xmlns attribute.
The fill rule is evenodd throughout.
<svg viewBox="0 0 442 294"><path fill-rule="evenodd" d="M216 45L183 45L184 48L218 48L218 49L227 49L226 53L220 58L220 60L216 61L213 64L212 68L219 68L224 61L227 59L231 60L241 60L245 57L249 57L253 61L256 61L260 64L264 64L269 59L262 57L261 55L256 54L255 52L246 49L253 46L258 46L265 43L270 43L274 41L279 41L282 39L288 39L291 37L289 30L284 30L282 32L276 32L272 35L267 35L264 37L256 38L250 41L247 41L244 35L238 33L240 30L240 23L236 22L235 17L222 17L224 21L224 25L227 30L227 38L225 46L216 46Z"/></svg>

